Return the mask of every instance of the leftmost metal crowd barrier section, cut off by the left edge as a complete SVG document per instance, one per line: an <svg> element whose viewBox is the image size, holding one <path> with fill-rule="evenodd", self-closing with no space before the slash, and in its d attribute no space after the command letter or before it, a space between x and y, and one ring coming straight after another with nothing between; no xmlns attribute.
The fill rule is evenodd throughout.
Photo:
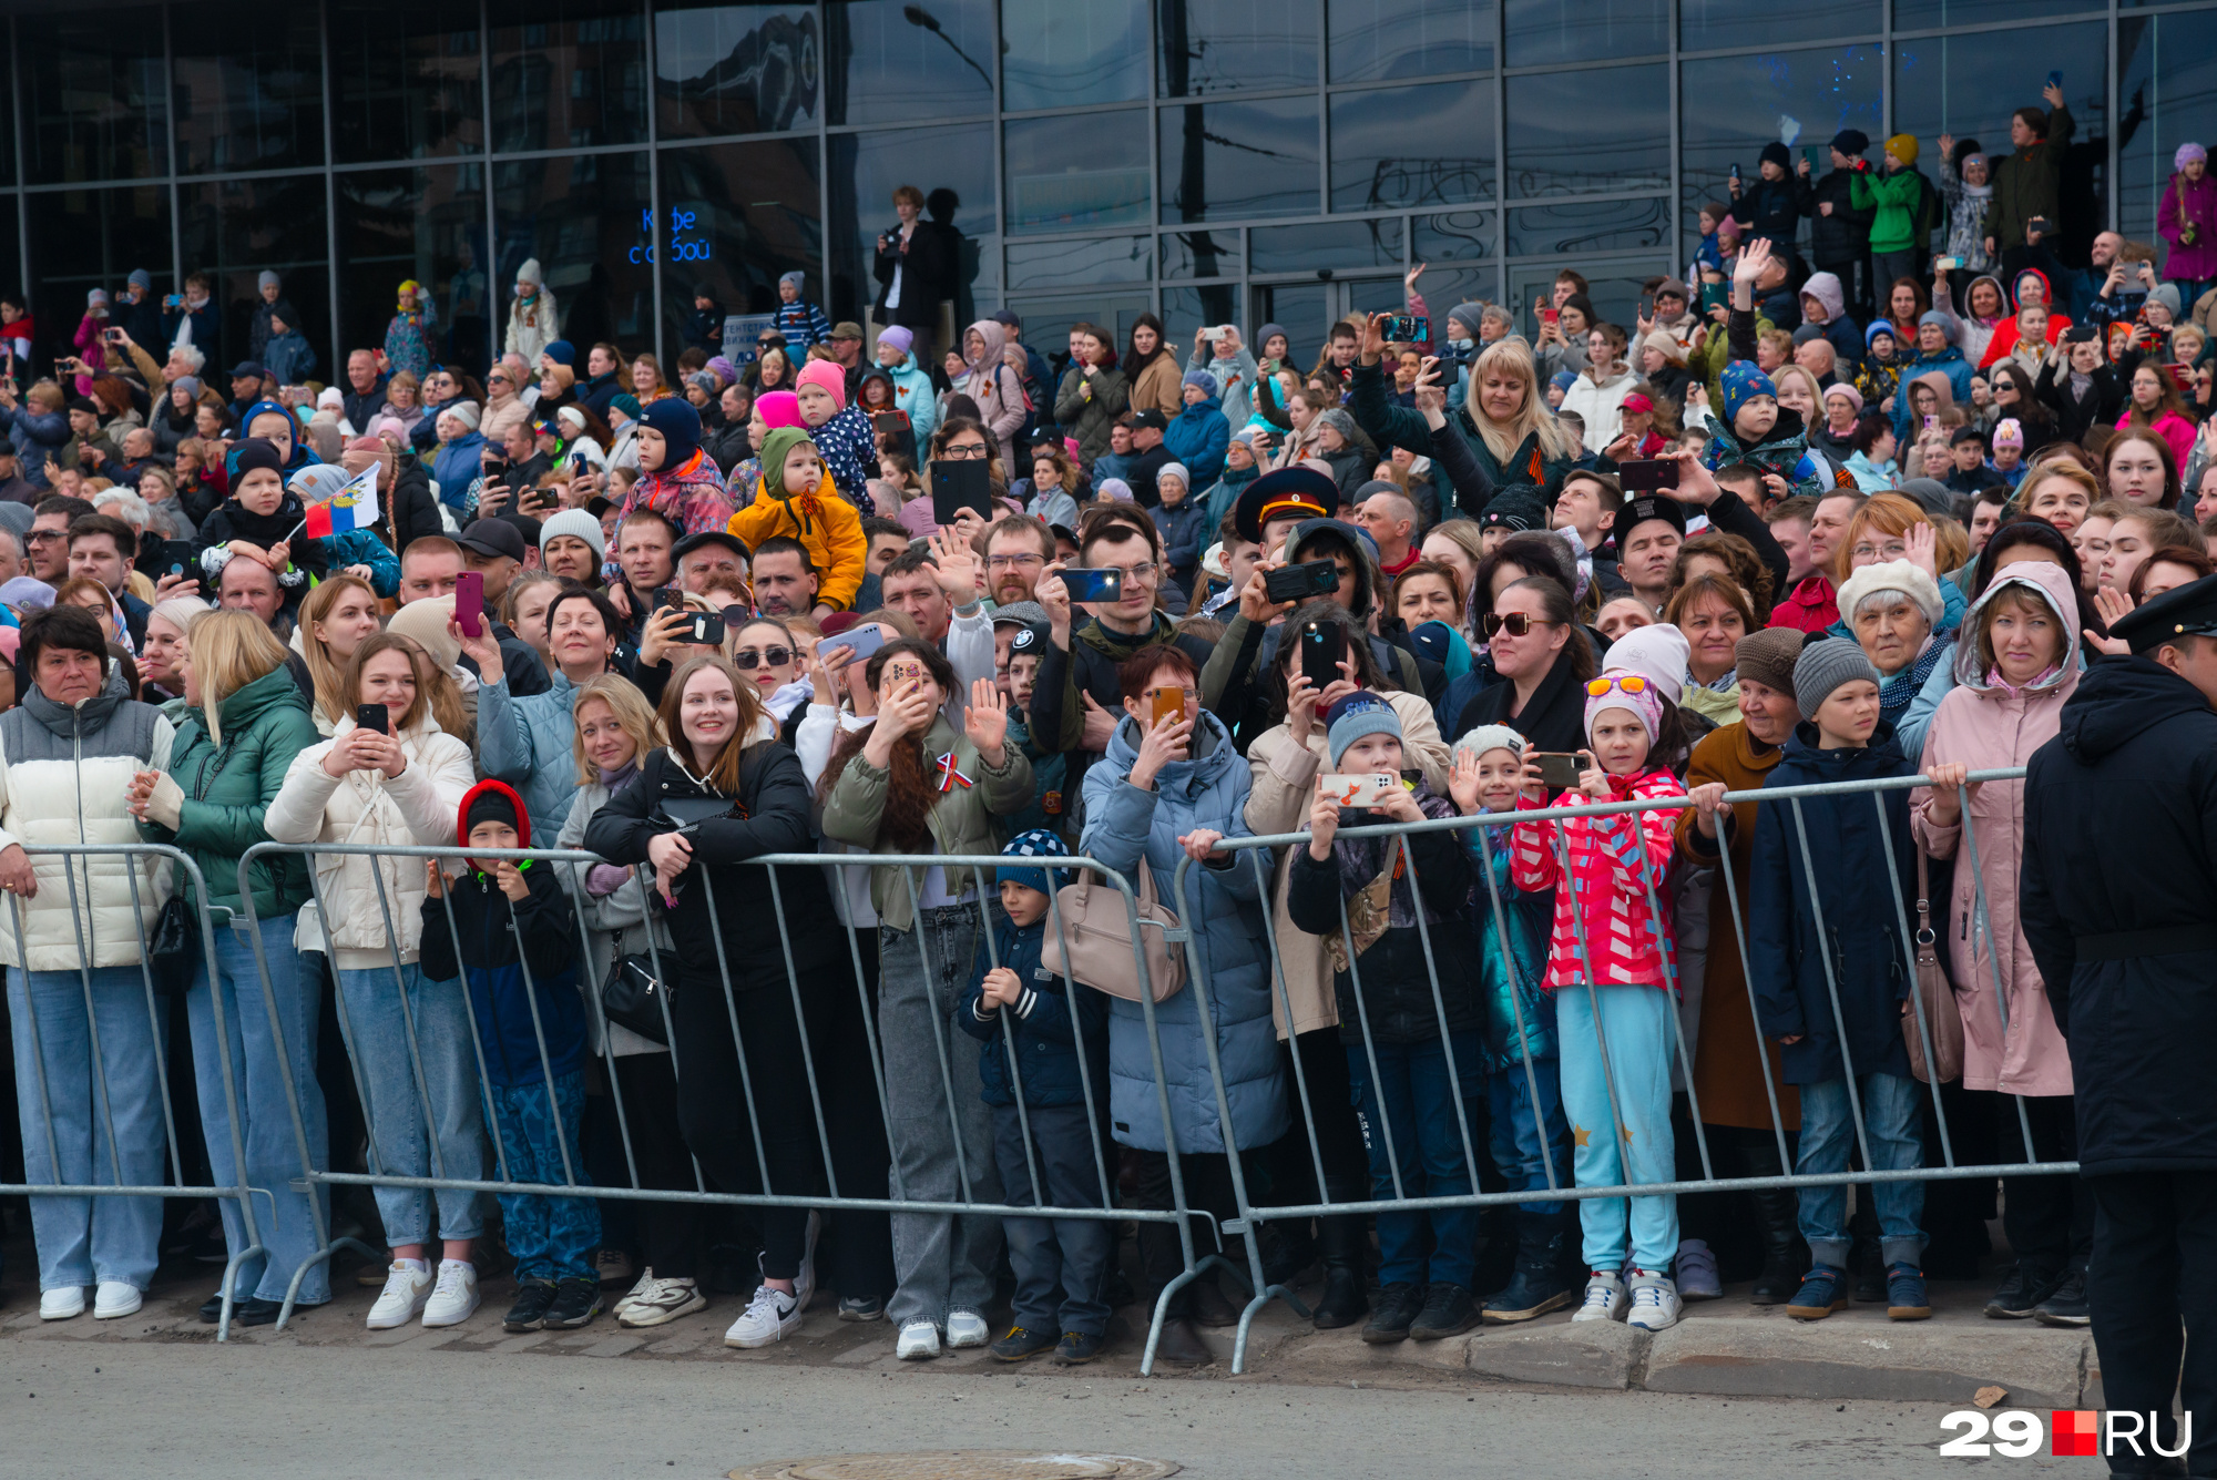
<svg viewBox="0 0 2217 1480"><path fill-rule="evenodd" d="M124 877L131 882L131 913L133 913L135 933L137 933L137 966L140 966L140 979L142 979L144 990L146 990L146 1024L149 1024L149 1032L151 1032L151 1037L155 1041L155 1048L157 1048L151 1068L153 1068L157 1094L160 1094L160 1101L162 1101L164 1150L166 1150L166 1157L168 1157L171 1179L164 1181L164 1183L144 1183L144 1181L131 1183L131 1181L124 1179L122 1154L118 1150L118 1139L115 1139L115 1112L113 1112L113 1099L115 1097L111 1094L111 1088L109 1088L109 1057L100 1048L100 1013L98 1013L95 1001L93 1001L93 970L95 968L91 966L91 962L93 962L93 957L98 955L98 948L100 948L100 942L95 939L95 931L93 931L95 917L93 917L93 913L89 908L93 869L89 864L80 869L80 866L73 866L73 864L64 862L62 882L64 882L64 886L69 891L69 915L71 915L73 931L75 931L75 953L78 953L78 966L73 970L75 970L75 975L80 979L80 990L84 995L84 1026L86 1026L86 1037L89 1037L89 1048L91 1048L91 1083L93 1083L93 1090L95 1090L93 1092L93 1110L98 1110L100 1128L102 1128L102 1132L106 1137L109 1176L113 1181L98 1181L98 1176L100 1176L98 1157L93 1157L93 1168L91 1168L93 1170L93 1179L91 1181L80 1181L80 1183L60 1181L60 1170L62 1170L64 1157L62 1157L60 1141L55 1137L55 1101L53 1101L53 1086L49 1083L49 1077L47 1077L47 1041L44 1041L44 1035L40 1032L38 1001L35 1001L35 995L33 995L31 984L29 984L29 968L27 966L16 966L16 968L9 968L9 977L13 977L11 986L18 986L18 984L22 986L20 1004L22 1004L22 1010L24 1010L24 1021L16 1030L18 1032L29 1032L31 1041L38 1046L38 1052L31 1055L31 1063L33 1063L33 1083L38 1086L40 1123L38 1126L24 1126L22 1134L24 1134L24 1143L27 1145L31 1143L31 1137L40 1137L44 1141L47 1163L55 1170L55 1179L53 1181L38 1181L38 1183L33 1183L33 1181L0 1183L0 1196L29 1196L29 1199L153 1196L153 1199L217 1199L217 1201L235 1203L237 1210L239 1210L239 1221L244 1223L244 1230L246 1230L246 1243L248 1243L248 1247L244 1247L239 1254L231 1256L226 1261L226 1265L224 1265L222 1316L217 1318L217 1325L215 1325L215 1338L217 1340L228 1340L231 1338L231 1312L233 1312L233 1305L235 1305L235 1301L233 1301L233 1283L235 1283L237 1270L239 1270L239 1265L244 1261L248 1261L248 1258L253 1258L257 1254L264 1254L262 1225L257 1221L255 1201L253 1199L255 1199L257 1192L264 1199L268 1199L268 1190L266 1188L251 1188L251 1185L246 1185L248 1183L248 1179L246 1179L246 1145L244 1145L244 1137L239 1132L239 1088L237 1088L239 1068L233 1066L233 1061L231 1061L231 1032L228 1032L228 1021L226 1021L226 1015L224 1015L222 993L211 993L211 1008L213 1008L213 1015L215 1015L215 1046L217 1046L217 1063L222 1068L224 1106L228 1110L226 1121L228 1121L228 1130L231 1130L231 1165L237 1170L237 1181L228 1183L228 1185L215 1185L215 1183L188 1183L184 1179L186 1157L182 1154L182 1145L177 1141L177 1112L175 1112L175 1103L171 1101L166 1052L168 1052L168 1039L171 1039L171 1035L175 1035L180 1030L188 1030L188 1028L184 1028L177 1021L164 1024L164 1013L162 1013L162 997L171 997L175 1004L180 1004L180 1013L175 1013L171 1017L182 1017L184 995L182 993L175 993L175 995L162 993L157 988L157 984L155 984L153 950L151 950L149 937L146 937L146 908L144 908L144 904L149 904L149 900L144 900L140 895L142 880L140 880L140 871L135 866L135 860L155 857L155 860L162 860L162 864L166 864L168 869L175 869L175 875L166 877L166 884L171 886L166 893L175 893L175 888L184 880L191 882L191 888L193 888L193 911L195 911L195 917L197 917L197 939L193 942L193 946L195 946L193 955L197 959L193 962L193 968L195 968L195 975L197 975L197 970L206 970L208 979L213 981L215 975L217 975L217 962L215 962L215 939L217 939L215 937L215 928L217 926L213 924L211 913L208 913L208 886L206 886L206 880L202 877L200 866L184 851L180 851L175 846L168 846L168 844L151 844L151 842L149 844L29 844L27 842L27 844L22 844L22 849L33 860L40 860L40 857L64 857L64 860L73 860L73 857L122 857L122 860L126 860ZM177 875L182 875L182 880ZM40 882L40 888L51 888L51 886L53 886L51 880L42 880ZM29 913L31 906L24 904L22 895L9 895L7 904L9 904L7 913L9 913L11 937L13 937L13 944L16 944L16 959L29 964L31 955L29 955L27 913ZM228 928L228 922L226 922L224 928ZM71 970L71 968L60 968L60 970ZM44 970L40 970L40 975L44 975ZM9 993L9 997L13 999L16 993ZM279 1037L279 1050L282 1050L282 1037ZM122 1066L118 1066L118 1068L122 1068ZM20 1092L20 1086L18 1086L18 1103L20 1101L22 1101L22 1092ZM197 1121L200 1121L200 1112L195 1108L193 1123L197 1123Z"/></svg>

